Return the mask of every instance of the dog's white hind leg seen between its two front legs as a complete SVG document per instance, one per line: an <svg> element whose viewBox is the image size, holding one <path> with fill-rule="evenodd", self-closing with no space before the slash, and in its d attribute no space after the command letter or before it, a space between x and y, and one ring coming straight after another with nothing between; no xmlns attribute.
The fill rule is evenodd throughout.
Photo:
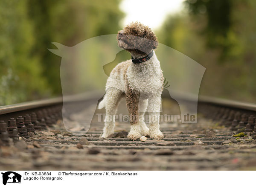
<svg viewBox="0 0 256 186"><path fill-rule="evenodd" d="M148 99L140 99L139 101L139 124L140 124L140 134L142 136L149 136L149 129L145 124L144 114L148 107Z"/></svg>

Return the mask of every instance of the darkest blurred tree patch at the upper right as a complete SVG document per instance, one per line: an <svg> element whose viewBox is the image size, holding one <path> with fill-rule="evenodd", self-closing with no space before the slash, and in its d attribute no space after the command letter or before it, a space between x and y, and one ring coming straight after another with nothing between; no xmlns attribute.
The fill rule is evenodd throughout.
<svg viewBox="0 0 256 186"><path fill-rule="evenodd" d="M222 50L220 57L227 56L234 44L229 38L232 24L232 0L186 0L189 13L206 18L206 26L202 33L207 36L207 44ZM199 18L200 19L200 18Z"/></svg>

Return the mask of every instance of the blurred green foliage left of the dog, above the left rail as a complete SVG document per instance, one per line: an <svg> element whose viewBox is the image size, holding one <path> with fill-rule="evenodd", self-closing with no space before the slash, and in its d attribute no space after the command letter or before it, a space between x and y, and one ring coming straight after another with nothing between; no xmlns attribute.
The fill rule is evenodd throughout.
<svg viewBox="0 0 256 186"><path fill-rule="evenodd" d="M115 34L119 0L1 0L0 105L61 95L61 58L51 42L73 46Z"/></svg>

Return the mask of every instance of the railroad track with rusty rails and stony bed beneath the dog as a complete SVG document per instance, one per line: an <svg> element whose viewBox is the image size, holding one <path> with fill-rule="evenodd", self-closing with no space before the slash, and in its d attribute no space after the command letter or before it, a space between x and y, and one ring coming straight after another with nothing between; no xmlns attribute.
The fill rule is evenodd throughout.
<svg viewBox="0 0 256 186"><path fill-rule="evenodd" d="M65 98L74 108L70 118L79 116L82 105L90 105L99 98L95 93ZM126 138L127 122L116 122L115 134L100 138L104 123L98 122L97 113L104 110L96 110L87 133L67 132L62 119L70 118L61 117L62 102L57 98L0 107L1 169L256 169L256 106L253 104L201 97L197 124L161 122L164 139L148 138L141 142ZM120 113L126 112L124 102L119 108ZM177 102L165 94L163 113L179 113Z"/></svg>

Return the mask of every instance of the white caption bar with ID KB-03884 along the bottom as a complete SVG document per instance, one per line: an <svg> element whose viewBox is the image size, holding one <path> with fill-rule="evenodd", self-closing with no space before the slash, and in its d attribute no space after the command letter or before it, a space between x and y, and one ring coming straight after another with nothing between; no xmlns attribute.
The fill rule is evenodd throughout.
<svg viewBox="0 0 256 186"><path fill-rule="evenodd" d="M6 186L216 186L253 183L255 171L1 171ZM239 179L237 179L239 178ZM15 184L17 183L17 184Z"/></svg>

